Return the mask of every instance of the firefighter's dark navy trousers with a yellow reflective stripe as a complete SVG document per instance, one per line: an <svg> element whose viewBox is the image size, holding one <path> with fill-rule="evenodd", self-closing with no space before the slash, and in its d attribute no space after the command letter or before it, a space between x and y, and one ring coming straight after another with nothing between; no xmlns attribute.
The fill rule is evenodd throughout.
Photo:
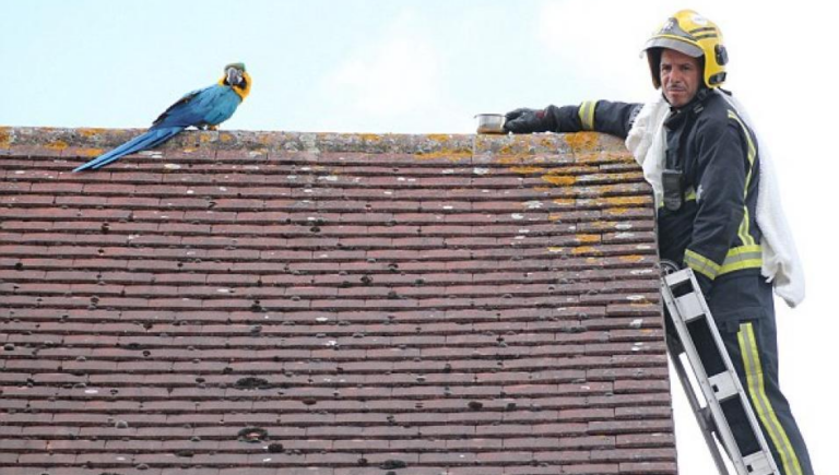
<svg viewBox="0 0 839 475"><path fill-rule="evenodd" d="M776 465L783 475L812 475L806 444L778 381L771 285L759 274L718 277L708 305ZM722 372L724 365L710 335L702 334L700 328L692 329L692 334L708 375ZM738 399L723 402L722 408L741 453L759 450Z"/></svg>

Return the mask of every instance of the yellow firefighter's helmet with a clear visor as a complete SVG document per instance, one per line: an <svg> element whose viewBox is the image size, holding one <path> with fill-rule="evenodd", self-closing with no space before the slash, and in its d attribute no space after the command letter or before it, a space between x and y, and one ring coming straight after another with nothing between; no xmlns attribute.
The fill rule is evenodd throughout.
<svg viewBox="0 0 839 475"><path fill-rule="evenodd" d="M682 10L667 19L652 37L647 40L643 50L650 62L652 84L661 87L659 63L661 48L675 49L678 52L704 58L704 79L708 87L719 87L725 82L725 63L729 54L722 44L722 32L716 23L693 10Z"/></svg>

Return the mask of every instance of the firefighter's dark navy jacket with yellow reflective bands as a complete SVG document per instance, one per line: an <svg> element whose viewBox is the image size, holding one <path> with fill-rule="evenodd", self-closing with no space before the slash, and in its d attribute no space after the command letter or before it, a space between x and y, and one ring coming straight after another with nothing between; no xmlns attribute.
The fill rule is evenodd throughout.
<svg viewBox="0 0 839 475"><path fill-rule="evenodd" d="M692 103L671 109L664 122L665 167L682 173L683 201L677 210L660 206L657 213L661 258L694 270L714 316L713 307L724 307L719 311L726 313L744 305L765 306L764 297L749 301L730 292L717 295L720 285L714 282L734 284L746 275L752 281L759 277L761 264L761 235L755 221L757 141L722 94L700 90ZM556 132L593 130L626 139L641 106L608 100L550 106L545 119ZM736 301L719 305L729 298Z"/></svg>

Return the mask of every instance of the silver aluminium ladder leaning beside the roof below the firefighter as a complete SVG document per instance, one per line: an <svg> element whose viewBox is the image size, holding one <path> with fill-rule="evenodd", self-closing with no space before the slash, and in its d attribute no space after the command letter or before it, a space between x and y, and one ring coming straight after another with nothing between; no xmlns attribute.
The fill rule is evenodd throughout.
<svg viewBox="0 0 839 475"><path fill-rule="evenodd" d="M699 423L702 437L711 451L717 470L720 475L729 475L713 434L729 454L737 475L780 475L693 271L690 269L680 271L670 262L662 262L662 271L661 295L677 335L677 339L676 335L667 335L667 353ZM706 356L705 363L699 357L694 337L706 339L709 341L706 344L711 343L716 348L716 352L712 352L716 354L711 358ZM688 379L681 358L683 353L705 396L707 403L705 407L700 405ZM713 373L708 375L708 372ZM755 437L752 447L758 448L755 452L742 453L723 413L723 406L729 411L742 411L741 414L745 414Z"/></svg>

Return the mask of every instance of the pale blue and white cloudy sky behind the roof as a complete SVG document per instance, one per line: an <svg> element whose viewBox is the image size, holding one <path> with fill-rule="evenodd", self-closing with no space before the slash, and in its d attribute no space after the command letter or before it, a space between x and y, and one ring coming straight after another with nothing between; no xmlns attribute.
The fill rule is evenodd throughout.
<svg viewBox="0 0 839 475"><path fill-rule="evenodd" d="M472 133L478 112L647 99L640 48L683 8L722 28L726 87L779 170L808 286L797 309L778 301L782 387L828 473L839 427L834 2L0 0L0 126L144 128L244 61L253 90L227 129ZM680 471L707 475L692 417L677 405Z"/></svg>

